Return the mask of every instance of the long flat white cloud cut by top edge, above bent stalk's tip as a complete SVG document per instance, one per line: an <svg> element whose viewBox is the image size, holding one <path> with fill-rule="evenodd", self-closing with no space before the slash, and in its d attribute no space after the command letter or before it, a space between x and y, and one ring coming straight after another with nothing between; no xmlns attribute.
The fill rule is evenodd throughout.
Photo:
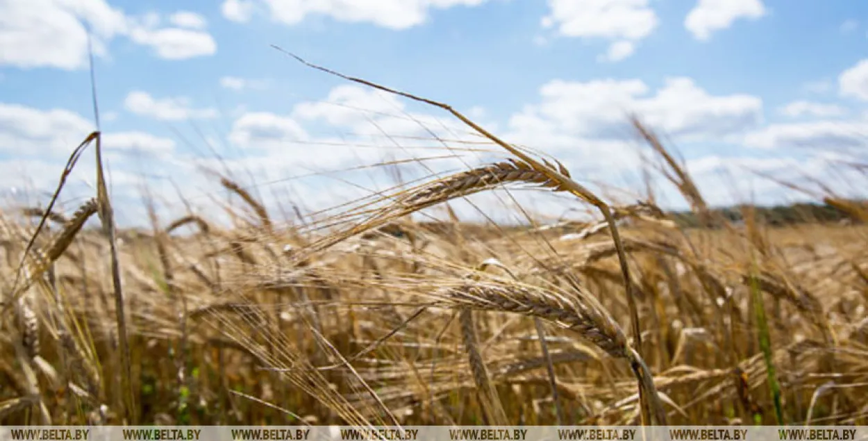
<svg viewBox="0 0 868 441"><path fill-rule="evenodd" d="M477 6L486 0L225 0L223 16L247 22L254 10L266 10L273 20L287 25L301 23L308 16L329 16L339 22L374 23L393 30L404 30L425 22L431 9Z"/></svg>

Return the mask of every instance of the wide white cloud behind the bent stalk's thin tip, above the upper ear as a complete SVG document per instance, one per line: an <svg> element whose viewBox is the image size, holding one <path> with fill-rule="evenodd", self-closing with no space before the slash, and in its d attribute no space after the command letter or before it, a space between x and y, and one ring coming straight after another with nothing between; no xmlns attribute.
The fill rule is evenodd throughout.
<svg viewBox="0 0 868 441"><path fill-rule="evenodd" d="M480 109L470 111L484 118ZM341 85L323 101L300 102L288 115L247 112L233 122L229 141L248 150L249 168L286 175L449 155L432 138L468 139L465 133L450 118L411 112L393 95ZM455 166L450 161L437 163L441 168Z"/></svg>

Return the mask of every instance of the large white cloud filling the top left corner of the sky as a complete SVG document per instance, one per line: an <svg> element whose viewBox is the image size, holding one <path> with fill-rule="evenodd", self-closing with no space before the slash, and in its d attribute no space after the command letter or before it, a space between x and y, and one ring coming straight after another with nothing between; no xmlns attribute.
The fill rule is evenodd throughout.
<svg viewBox="0 0 868 441"><path fill-rule="evenodd" d="M126 36L155 48L157 56L179 59L214 53L213 38L194 23L195 14L182 12L170 21L187 28L157 28L159 16L128 16L105 0L32 0L0 2L0 65L29 69L83 69L88 60L88 33L93 31L97 56L109 42ZM201 18L199 16L198 18Z"/></svg>

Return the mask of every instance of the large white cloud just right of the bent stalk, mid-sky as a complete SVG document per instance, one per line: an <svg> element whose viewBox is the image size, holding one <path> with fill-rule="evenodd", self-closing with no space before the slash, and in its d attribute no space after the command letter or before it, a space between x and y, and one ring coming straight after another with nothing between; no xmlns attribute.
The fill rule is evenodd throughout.
<svg viewBox="0 0 868 441"><path fill-rule="evenodd" d="M511 115L504 139L555 155L582 181L609 184L641 167L630 114L678 142L737 140L762 114L759 98L711 95L683 77L656 91L638 79L554 80L540 95Z"/></svg>

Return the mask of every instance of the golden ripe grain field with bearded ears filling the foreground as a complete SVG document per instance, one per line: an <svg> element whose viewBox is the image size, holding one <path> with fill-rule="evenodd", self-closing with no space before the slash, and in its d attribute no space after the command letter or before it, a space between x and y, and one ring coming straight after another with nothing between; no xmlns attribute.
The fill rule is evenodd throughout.
<svg viewBox="0 0 868 441"><path fill-rule="evenodd" d="M635 119L703 225L678 227L443 103L308 65L444 109L510 159L283 226L223 178L239 227L148 206L133 236L89 135L57 191L95 145L93 200L0 223L0 424L868 424L865 207L825 194L857 222L772 228L746 207L733 226ZM412 216L514 186L599 221Z"/></svg>

